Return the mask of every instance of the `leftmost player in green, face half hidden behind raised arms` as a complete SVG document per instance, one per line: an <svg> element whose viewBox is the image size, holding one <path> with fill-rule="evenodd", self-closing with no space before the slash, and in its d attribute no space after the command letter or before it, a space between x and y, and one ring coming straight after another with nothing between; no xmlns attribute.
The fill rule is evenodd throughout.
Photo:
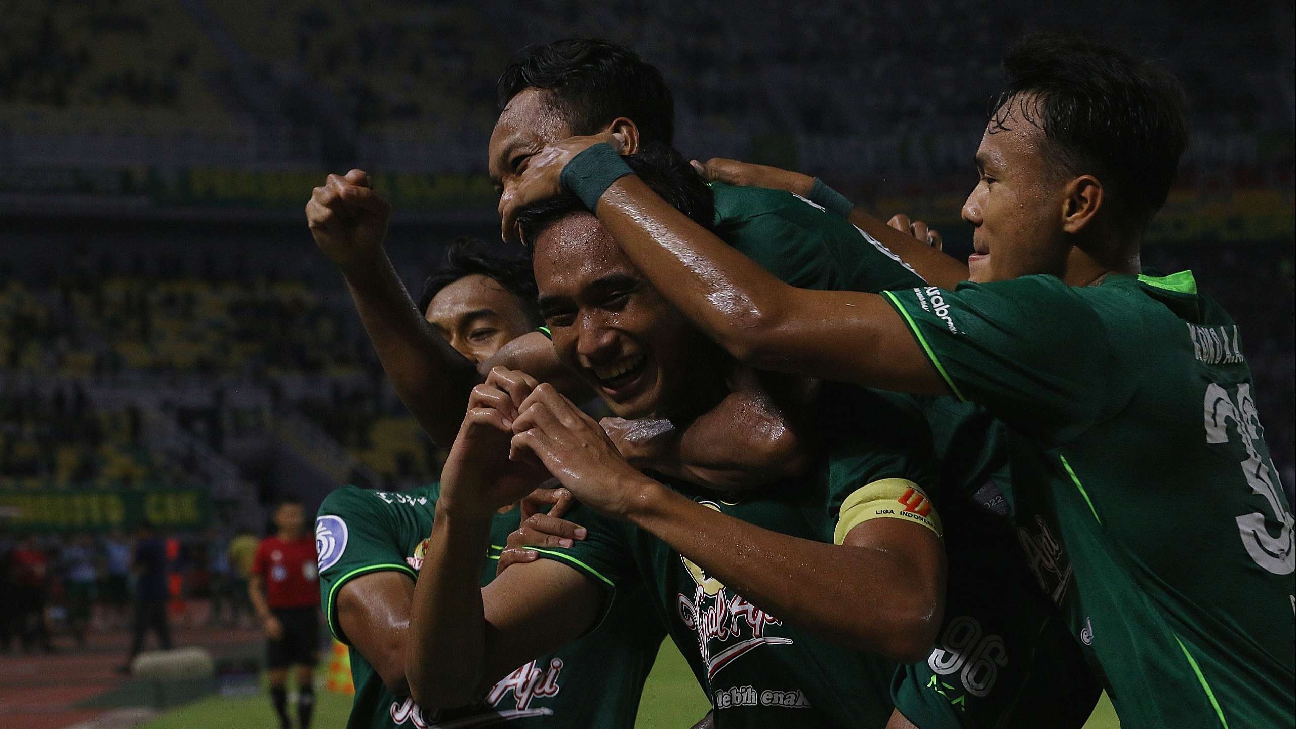
<svg viewBox="0 0 1296 729"><path fill-rule="evenodd" d="M539 324L530 261L491 254L468 239L447 249L446 263L428 278L419 307L473 362ZM320 506L315 541L324 611L329 629L351 649L355 702L347 725L634 726L644 680L665 636L636 590L618 595L590 636L518 662L483 695L463 702L470 706L446 711L415 703L406 680L410 603L439 490L437 484L399 493L346 486ZM527 520L555 533L546 544L560 546L560 540L570 544L579 537L574 524L557 519L564 507ZM478 558L482 585L495 576L500 550L515 532L524 532L520 507L492 515L491 546Z"/></svg>

